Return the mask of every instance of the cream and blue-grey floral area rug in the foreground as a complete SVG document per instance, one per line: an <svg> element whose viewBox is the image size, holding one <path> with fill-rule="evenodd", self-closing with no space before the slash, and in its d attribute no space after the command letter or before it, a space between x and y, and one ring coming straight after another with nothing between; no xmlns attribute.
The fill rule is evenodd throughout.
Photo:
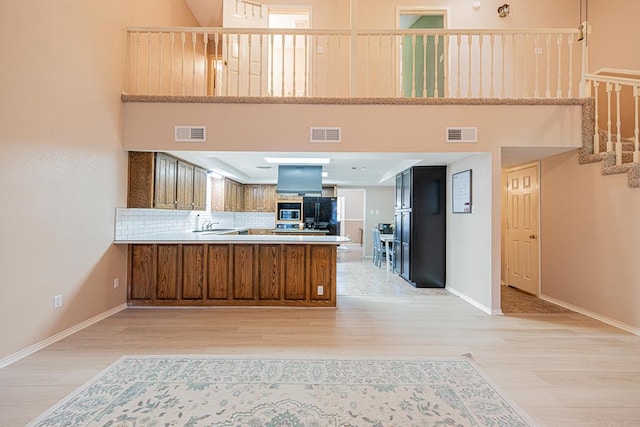
<svg viewBox="0 0 640 427"><path fill-rule="evenodd" d="M528 426L470 358L128 357L29 426Z"/></svg>

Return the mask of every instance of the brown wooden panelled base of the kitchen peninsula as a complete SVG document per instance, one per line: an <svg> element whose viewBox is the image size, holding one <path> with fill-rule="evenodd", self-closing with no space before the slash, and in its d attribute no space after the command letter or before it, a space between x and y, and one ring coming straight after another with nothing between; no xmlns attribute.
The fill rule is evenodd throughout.
<svg viewBox="0 0 640 427"><path fill-rule="evenodd" d="M336 246L131 244L130 306L336 306Z"/></svg>

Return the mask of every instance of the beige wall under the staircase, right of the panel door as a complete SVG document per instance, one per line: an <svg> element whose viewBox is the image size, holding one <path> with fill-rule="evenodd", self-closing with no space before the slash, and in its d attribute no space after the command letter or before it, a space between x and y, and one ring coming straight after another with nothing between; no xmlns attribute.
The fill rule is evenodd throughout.
<svg viewBox="0 0 640 427"><path fill-rule="evenodd" d="M640 194L576 153L542 161L541 293L640 330Z"/></svg>

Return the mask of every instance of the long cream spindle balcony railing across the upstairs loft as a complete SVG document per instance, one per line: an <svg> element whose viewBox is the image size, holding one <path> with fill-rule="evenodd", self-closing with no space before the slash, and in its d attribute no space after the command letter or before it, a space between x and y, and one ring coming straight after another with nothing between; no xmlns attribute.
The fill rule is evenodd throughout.
<svg viewBox="0 0 640 427"><path fill-rule="evenodd" d="M157 96L575 98L576 29L128 29L124 92Z"/></svg>

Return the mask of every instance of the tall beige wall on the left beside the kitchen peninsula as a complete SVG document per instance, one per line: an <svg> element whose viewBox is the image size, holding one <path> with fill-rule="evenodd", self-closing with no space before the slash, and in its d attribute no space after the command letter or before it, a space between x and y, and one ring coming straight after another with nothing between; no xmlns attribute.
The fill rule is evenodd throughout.
<svg viewBox="0 0 640 427"><path fill-rule="evenodd" d="M0 360L125 303L126 250L111 243L126 201L125 28L194 23L182 0L1 9Z"/></svg>

